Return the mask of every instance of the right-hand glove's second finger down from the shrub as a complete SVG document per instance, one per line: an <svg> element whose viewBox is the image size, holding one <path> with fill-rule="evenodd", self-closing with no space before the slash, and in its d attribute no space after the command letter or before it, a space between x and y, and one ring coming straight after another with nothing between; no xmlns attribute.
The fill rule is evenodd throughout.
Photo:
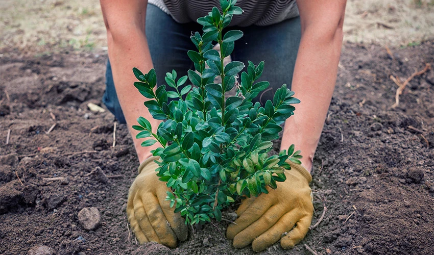
<svg viewBox="0 0 434 255"><path fill-rule="evenodd" d="M284 207L272 206L260 218L238 233L233 239L235 248L242 248L249 245L257 236L266 232L272 227L282 215L285 214Z"/></svg>

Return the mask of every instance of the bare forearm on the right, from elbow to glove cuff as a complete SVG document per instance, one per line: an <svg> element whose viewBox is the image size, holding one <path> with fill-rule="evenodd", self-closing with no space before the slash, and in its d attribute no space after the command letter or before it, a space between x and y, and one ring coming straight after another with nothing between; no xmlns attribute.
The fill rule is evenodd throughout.
<svg viewBox="0 0 434 255"><path fill-rule="evenodd" d="M333 93L341 54L342 30L334 36L318 37L308 30L301 38L292 90L301 103L285 122L281 149L292 143L302 151L302 163L310 171Z"/></svg>

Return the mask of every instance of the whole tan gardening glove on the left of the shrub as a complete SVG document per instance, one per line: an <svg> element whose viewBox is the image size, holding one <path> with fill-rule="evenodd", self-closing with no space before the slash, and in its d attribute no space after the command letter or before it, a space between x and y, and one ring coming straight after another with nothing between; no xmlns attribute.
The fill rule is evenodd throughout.
<svg viewBox="0 0 434 255"><path fill-rule="evenodd" d="M177 239L187 239L188 231L185 220L164 200L170 189L158 180L154 162L158 159L151 157L140 164L128 193L127 216L140 244L154 241L174 248Z"/></svg>

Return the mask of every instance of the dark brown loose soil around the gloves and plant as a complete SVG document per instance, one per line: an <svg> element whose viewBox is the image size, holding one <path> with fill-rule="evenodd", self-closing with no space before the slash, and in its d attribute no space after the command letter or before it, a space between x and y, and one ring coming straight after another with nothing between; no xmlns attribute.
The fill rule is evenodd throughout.
<svg viewBox="0 0 434 255"><path fill-rule="evenodd" d="M328 210L294 249L277 243L263 254L310 254L304 245L318 254L432 254L434 70L415 77L395 109L390 75L403 81L425 63L434 65L434 42L392 52L344 46L314 161L312 224ZM137 173L132 140L127 127L117 125L112 148L113 116L87 108L89 102L101 105L106 59L95 53L3 54L0 254L26 254L37 245L55 254L254 253L231 246L226 222L190 231L174 250L136 244L125 211ZM53 177L64 178L46 180ZM100 211L94 231L79 223L85 207Z"/></svg>

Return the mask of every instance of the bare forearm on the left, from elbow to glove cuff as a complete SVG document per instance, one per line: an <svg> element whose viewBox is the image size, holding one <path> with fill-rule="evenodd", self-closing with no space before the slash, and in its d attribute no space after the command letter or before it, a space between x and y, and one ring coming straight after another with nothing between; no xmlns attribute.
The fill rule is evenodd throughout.
<svg viewBox="0 0 434 255"><path fill-rule="evenodd" d="M158 144L152 147L141 147L140 143L143 139L135 139L138 131L133 130L131 127L136 124L139 116L151 122L153 131L157 130L159 124L159 121L154 120L148 108L143 105L143 101L147 100L147 98L144 98L133 85L136 82L132 71L133 67L137 67L144 73L153 68L148 43L142 33L133 31L129 33L128 38L125 38L125 40L112 38L109 34L108 48L117 97L127 121L128 129L133 136L134 145L141 163L151 156L151 149L158 147Z"/></svg>

